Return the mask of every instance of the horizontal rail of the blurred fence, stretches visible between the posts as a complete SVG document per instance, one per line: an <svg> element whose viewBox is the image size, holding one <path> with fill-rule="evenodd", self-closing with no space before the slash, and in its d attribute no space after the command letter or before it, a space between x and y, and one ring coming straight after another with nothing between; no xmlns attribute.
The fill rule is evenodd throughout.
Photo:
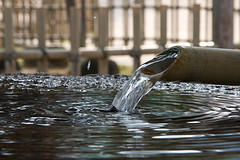
<svg viewBox="0 0 240 160"><path fill-rule="evenodd" d="M143 54L158 54L163 51L163 47L153 47L153 48L142 48L140 49ZM0 60L4 60L5 50L0 50ZM81 58L101 58L104 57L105 54L108 56L120 56L120 55L132 55L134 52L133 48L123 47L105 47L104 50L99 48L79 48L78 56ZM65 48L48 48L45 49L45 53L49 59L59 59L59 58L67 58L70 56L71 51ZM39 60L44 54L40 49L23 49L23 50L15 50L13 56L15 58L22 58L26 60Z"/></svg>

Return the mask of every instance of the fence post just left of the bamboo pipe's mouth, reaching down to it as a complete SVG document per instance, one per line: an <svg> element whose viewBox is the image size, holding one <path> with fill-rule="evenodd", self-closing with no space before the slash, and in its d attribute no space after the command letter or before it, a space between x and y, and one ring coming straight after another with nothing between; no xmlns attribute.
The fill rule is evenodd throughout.
<svg viewBox="0 0 240 160"><path fill-rule="evenodd" d="M133 6L133 69L134 71L140 66L141 57L141 7Z"/></svg>

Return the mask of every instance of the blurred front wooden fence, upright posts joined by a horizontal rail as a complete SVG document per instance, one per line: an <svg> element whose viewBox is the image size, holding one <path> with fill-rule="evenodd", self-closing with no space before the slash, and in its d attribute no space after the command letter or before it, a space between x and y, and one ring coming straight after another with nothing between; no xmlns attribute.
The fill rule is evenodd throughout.
<svg viewBox="0 0 240 160"><path fill-rule="evenodd" d="M126 1L124 1L126 2ZM169 6L160 4L156 6L158 11L158 21L159 21L159 35L156 38L157 45L156 47L144 48L143 40L144 37L144 25L146 19L144 19L144 7L142 4L134 4L132 6L124 4L124 14L129 15L129 10L132 11L132 27L133 27L133 36L132 42L133 45L127 45L129 40L128 34L125 34L124 46L123 47L114 47L111 44L113 36L111 34L111 29L113 28L111 22L112 8L111 7L99 7L94 8L95 16L97 16L97 23L94 24L95 27L95 36L93 39L97 39L97 45L94 48L81 47L81 37L85 37L86 33L81 30L81 17L82 12L79 9L79 6L71 8L71 19L70 19L70 44L71 49L67 50L64 48L49 48L46 46L46 26L48 23L47 19L47 10L49 8L40 7L35 8L36 10L36 23L37 23L37 42L38 46L35 48L23 47L17 49L14 43L14 20L16 19L16 14L12 7L5 7L3 9L4 17L4 32L3 32L3 49L0 50L0 60L4 60L5 72L13 73L16 71L16 59L22 58L25 60L37 60L38 61L38 71L47 72L48 63L51 59L57 58L69 58L72 64L71 73L72 75L81 75L81 59L82 58L98 58L99 61L99 73L107 74L108 66L107 61L109 56L112 55L131 55L133 58L134 69L140 65L140 57L142 54L152 54L159 53L166 47L166 43L169 40L167 33L169 27L167 26L168 18L168 9ZM170 9L173 9L170 7ZM189 8L188 8L189 10ZM188 42L190 44L198 46L200 43L200 5L193 4L190 8L192 13L192 37ZM145 22L144 22L145 21ZM128 27L129 21L125 21L125 27ZM127 29L125 29L126 32ZM84 36L83 36L84 35ZM179 40L176 40L178 42Z"/></svg>

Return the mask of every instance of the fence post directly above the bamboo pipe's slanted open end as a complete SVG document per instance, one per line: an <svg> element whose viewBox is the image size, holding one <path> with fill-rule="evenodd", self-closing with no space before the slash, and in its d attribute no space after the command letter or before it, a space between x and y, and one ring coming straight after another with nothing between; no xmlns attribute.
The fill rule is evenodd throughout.
<svg viewBox="0 0 240 160"><path fill-rule="evenodd" d="M161 38L160 38L160 46L165 48L167 43L167 6L160 6L160 14L161 14Z"/></svg>

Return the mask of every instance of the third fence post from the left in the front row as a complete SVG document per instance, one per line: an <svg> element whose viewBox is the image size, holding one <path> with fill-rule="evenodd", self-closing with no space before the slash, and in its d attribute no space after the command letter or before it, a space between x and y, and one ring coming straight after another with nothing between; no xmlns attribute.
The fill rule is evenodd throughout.
<svg viewBox="0 0 240 160"><path fill-rule="evenodd" d="M79 58L79 42L80 42L80 15L77 8L70 8L70 40L71 40L71 55L72 75L81 75L81 65Z"/></svg>

